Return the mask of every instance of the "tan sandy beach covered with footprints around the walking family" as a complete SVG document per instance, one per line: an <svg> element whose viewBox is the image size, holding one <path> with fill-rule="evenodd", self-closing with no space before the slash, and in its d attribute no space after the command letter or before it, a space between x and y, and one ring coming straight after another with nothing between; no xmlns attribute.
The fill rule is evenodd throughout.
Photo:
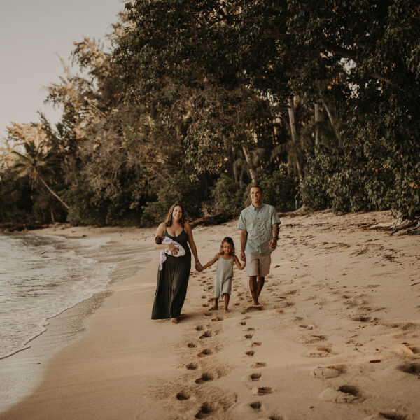
<svg viewBox="0 0 420 420"><path fill-rule="evenodd" d="M2 375L24 365L40 377L0 419L419 419L419 237L378 229L394 223L389 212L281 223L260 307L235 269L230 312L209 311L214 265L191 273L177 325L150 319L154 229L43 230L151 252L89 306L78 335L62 339L66 311L0 360ZM226 235L239 248L237 220L193 233L203 264Z"/></svg>

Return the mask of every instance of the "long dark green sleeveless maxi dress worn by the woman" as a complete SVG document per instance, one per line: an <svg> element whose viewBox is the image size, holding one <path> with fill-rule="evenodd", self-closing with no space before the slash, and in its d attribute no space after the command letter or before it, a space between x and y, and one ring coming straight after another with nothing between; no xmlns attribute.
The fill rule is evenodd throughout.
<svg viewBox="0 0 420 420"><path fill-rule="evenodd" d="M165 230L165 236L178 242L186 250L186 255L174 257L167 254L167 260L158 271L152 319L176 318L181 314L190 279L191 251L187 232L183 230L177 237L172 237Z"/></svg>

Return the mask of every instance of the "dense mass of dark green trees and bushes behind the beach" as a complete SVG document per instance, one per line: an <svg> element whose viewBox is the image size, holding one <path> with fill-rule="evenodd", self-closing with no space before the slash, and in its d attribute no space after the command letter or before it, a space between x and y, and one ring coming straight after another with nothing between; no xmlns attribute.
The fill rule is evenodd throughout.
<svg viewBox="0 0 420 420"><path fill-rule="evenodd" d="M251 181L279 211L299 192L414 218L419 19L413 0L131 1L109 52L76 43L82 75L50 86L59 124L10 127L10 148L35 139L51 165L3 153L0 221L148 225L176 200L236 215Z"/></svg>

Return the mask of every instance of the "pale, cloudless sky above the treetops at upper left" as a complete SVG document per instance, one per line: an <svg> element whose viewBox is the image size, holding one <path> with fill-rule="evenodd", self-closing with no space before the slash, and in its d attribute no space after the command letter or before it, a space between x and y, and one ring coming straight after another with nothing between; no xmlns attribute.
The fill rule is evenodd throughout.
<svg viewBox="0 0 420 420"><path fill-rule="evenodd" d="M59 111L45 106L45 86L63 74L73 41L104 38L123 10L121 0L0 0L0 141L10 122L37 121L44 111L56 123Z"/></svg>

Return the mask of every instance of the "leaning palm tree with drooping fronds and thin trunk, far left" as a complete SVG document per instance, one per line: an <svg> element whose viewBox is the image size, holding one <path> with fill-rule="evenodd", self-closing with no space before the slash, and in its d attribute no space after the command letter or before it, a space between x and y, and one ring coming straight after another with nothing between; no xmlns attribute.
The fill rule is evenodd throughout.
<svg viewBox="0 0 420 420"><path fill-rule="evenodd" d="M16 178L25 178L29 176L29 183L31 190L34 190L36 182L39 180L45 188L55 197L59 202L69 210L69 206L55 193L45 179L50 180L54 176L54 169L57 167L57 156L52 151L48 151L45 141L36 144L34 140L28 140L23 143L25 153L13 151L17 155L15 165L12 169L17 172Z"/></svg>

